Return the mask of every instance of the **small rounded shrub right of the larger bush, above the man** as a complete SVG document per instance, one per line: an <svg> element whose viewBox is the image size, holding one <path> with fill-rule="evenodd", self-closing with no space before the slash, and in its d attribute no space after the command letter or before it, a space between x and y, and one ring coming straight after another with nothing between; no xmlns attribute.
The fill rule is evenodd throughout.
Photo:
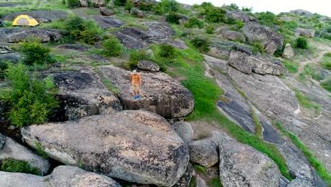
<svg viewBox="0 0 331 187"><path fill-rule="evenodd" d="M122 45L115 36L111 36L108 40L103 41L103 50L106 56L117 57L122 54Z"/></svg>

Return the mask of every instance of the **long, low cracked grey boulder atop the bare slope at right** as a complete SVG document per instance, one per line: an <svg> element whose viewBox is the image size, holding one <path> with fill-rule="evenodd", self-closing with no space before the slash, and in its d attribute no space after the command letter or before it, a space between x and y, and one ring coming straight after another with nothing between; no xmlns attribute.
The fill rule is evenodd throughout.
<svg viewBox="0 0 331 187"><path fill-rule="evenodd" d="M277 60L248 55L240 51L231 51L228 62L232 67L245 74L251 74L252 72L273 75L288 74L284 64Z"/></svg>

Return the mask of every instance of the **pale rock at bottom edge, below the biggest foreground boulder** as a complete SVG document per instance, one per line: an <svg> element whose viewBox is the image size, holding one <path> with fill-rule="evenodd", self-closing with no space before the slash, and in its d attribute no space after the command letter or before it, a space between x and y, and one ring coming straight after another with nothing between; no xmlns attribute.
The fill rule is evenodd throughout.
<svg viewBox="0 0 331 187"><path fill-rule="evenodd" d="M90 187L120 187L120 184L108 176L85 171L75 166L57 166L48 176L51 186L90 186Z"/></svg>

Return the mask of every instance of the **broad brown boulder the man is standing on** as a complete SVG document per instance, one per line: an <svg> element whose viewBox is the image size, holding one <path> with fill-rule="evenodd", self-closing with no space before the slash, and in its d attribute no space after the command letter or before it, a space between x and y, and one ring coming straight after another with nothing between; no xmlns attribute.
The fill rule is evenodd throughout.
<svg viewBox="0 0 331 187"><path fill-rule="evenodd" d="M119 89L125 109L141 109L164 118L176 118L191 113L194 108L192 93L167 74L141 73L141 98L134 101L129 84L131 72L112 66L100 67L100 71Z"/></svg>

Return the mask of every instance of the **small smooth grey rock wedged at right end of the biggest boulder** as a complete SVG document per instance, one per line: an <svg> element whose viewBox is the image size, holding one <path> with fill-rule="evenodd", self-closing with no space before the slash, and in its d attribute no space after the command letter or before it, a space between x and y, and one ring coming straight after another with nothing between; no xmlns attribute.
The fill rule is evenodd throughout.
<svg viewBox="0 0 331 187"><path fill-rule="evenodd" d="M189 144L193 141L193 129L190 123L185 121L178 121L171 124L171 128L177 132L177 134L182 138L186 144Z"/></svg>

